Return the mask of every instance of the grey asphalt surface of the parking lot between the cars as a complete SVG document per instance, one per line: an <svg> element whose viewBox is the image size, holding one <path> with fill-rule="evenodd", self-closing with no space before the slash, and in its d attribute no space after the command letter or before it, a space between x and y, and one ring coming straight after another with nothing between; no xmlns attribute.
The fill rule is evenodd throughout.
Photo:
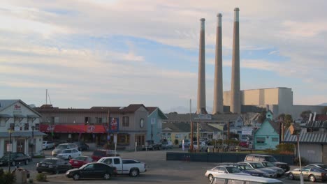
<svg viewBox="0 0 327 184"><path fill-rule="evenodd" d="M181 151L181 149L174 148L173 151ZM132 158L145 162L147 172L136 178L117 176L110 181L96 179L92 180L92 183L208 183L208 178L204 176L205 171L216 165L216 163L210 162L166 161L166 151L120 152L119 154L122 158ZM83 151L82 155L92 155L92 151ZM45 151L45 156L51 157L51 151ZM36 163L41 160L43 159L34 158L28 165L21 165L20 167L28 169L31 172L31 178L35 178L37 174ZM292 166L291 169L295 167ZM3 167L3 169L7 168ZM90 183L90 180L73 181L71 178L66 178L64 174L47 174L47 176L48 183ZM299 183L299 181L290 181L285 176L278 179L284 183ZM36 183L35 179L34 183Z"/></svg>

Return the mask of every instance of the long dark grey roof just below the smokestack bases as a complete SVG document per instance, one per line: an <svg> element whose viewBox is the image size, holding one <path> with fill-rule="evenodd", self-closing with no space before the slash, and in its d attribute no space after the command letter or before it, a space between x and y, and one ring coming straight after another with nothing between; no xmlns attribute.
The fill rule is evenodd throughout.
<svg viewBox="0 0 327 184"><path fill-rule="evenodd" d="M169 122L189 122L190 115L189 114L166 114ZM191 121L198 121L196 118L198 114L191 114ZM226 123L228 121L236 121L240 118L239 114L215 114L211 115L211 120L205 120L205 122L215 122L215 123Z"/></svg>

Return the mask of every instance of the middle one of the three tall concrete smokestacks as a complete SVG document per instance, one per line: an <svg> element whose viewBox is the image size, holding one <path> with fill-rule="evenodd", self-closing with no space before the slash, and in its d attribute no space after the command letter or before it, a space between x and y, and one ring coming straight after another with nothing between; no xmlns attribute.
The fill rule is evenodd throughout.
<svg viewBox="0 0 327 184"><path fill-rule="evenodd" d="M215 58L215 84L214 84L214 105L212 114L224 113L223 104L223 80L222 80L222 37L221 37L221 13L217 15L216 31L216 58Z"/></svg>

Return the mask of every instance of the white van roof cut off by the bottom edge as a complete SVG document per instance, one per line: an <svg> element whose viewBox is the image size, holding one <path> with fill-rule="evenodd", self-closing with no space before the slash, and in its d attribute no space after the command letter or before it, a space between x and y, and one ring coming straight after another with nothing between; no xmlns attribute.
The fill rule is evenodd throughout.
<svg viewBox="0 0 327 184"><path fill-rule="evenodd" d="M273 178L261 178L256 176L240 176L236 174L219 174L215 176L211 184L283 184L282 181Z"/></svg>

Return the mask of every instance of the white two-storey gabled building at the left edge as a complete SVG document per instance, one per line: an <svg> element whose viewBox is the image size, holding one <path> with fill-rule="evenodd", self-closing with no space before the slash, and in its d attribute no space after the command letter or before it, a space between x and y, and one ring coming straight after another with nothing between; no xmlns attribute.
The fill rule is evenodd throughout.
<svg viewBox="0 0 327 184"><path fill-rule="evenodd" d="M22 100L0 100L0 157L8 151L39 155L45 136L39 131L40 118Z"/></svg>

